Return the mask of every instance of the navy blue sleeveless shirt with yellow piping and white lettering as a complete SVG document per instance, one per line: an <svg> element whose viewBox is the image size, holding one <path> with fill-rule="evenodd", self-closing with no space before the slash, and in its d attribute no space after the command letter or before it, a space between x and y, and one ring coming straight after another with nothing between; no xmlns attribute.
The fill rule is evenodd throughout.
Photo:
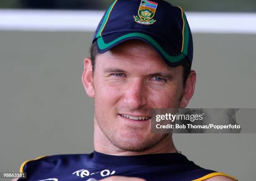
<svg viewBox="0 0 256 181"><path fill-rule="evenodd" d="M112 156L96 151L45 156L24 162L20 171L26 172L27 178L18 181L87 181L114 175L139 177L146 181L201 181L225 175L201 168L181 153Z"/></svg>

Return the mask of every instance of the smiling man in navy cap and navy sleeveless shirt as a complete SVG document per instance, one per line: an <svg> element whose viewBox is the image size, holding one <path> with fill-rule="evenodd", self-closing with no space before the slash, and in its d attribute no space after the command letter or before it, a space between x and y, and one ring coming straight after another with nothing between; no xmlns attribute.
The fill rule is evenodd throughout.
<svg viewBox="0 0 256 181"><path fill-rule="evenodd" d="M97 27L82 82L95 101L94 153L23 163L28 181L234 181L151 133L152 108L184 108L196 73L181 8L163 0L115 0Z"/></svg>

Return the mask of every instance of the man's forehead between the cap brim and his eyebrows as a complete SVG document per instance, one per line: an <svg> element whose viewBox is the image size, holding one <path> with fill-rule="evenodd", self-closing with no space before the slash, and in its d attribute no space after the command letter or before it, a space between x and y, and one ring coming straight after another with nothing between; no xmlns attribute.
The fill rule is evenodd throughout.
<svg viewBox="0 0 256 181"><path fill-rule="evenodd" d="M104 54L99 54L98 59L100 59L99 64L101 64L102 69L139 69L150 72L175 72L176 69L179 69L178 67L170 67L154 48L137 39L120 43Z"/></svg>

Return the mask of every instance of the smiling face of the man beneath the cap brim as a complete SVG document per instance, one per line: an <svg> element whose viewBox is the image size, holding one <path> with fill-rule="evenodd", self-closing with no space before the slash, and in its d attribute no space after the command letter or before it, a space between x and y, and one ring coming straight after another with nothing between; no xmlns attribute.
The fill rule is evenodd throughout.
<svg viewBox="0 0 256 181"><path fill-rule="evenodd" d="M95 122L115 147L143 151L166 138L151 133L152 108L177 108L183 67L167 66L142 41L126 41L96 58Z"/></svg>

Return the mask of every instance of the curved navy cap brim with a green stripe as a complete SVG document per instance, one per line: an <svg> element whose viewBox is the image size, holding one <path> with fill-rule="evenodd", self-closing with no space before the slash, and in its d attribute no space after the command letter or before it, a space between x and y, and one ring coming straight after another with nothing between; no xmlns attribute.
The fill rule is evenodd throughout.
<svg viewBox="0 0 256 181"><path fill-rule="evenodd" d="M184 61L187 61L187 56L175 48L169 47L168 42L141 32L117 32L97 38L97 51L103 54L114 46L131 39L140 39L148 43L171 67L179 66Z"/></svg>

